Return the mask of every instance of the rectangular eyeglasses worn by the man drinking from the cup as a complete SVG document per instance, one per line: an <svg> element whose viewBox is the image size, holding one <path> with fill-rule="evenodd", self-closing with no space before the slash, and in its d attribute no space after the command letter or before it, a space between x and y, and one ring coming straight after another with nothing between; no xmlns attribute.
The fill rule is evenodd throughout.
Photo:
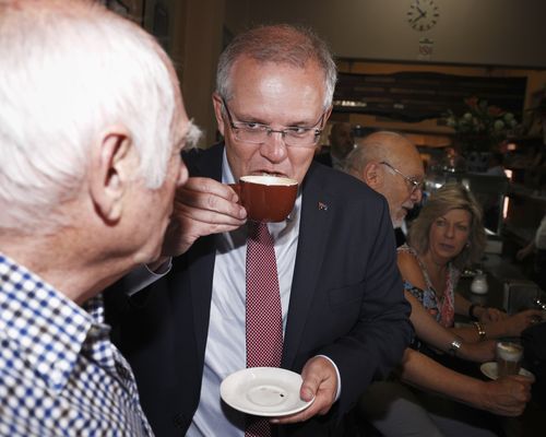
<svg viewBox="0 0 546 437"><path fill-rule="evenodd" d="M300 126L290 126L285 129L275 130L271 129L268 125L262 125L253 121L234 121L232 114L227 107L226 101L222 98L224 108L226 108L227 118L229 119L229 126L234 132L236 140L251 143L251 144L263 144L268 141L268 138L272 133L281 133L283 141L286 145L294 147L314 147L319 141L322 129L318 129L317 126L321 126L324 120L324 114L319 118L313 126L309 128Z"/></svg>

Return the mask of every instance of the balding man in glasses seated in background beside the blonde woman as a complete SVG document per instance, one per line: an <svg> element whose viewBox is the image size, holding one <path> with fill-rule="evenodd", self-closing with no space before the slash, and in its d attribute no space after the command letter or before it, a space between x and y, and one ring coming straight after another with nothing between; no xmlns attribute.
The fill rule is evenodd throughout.
<svg viewBox="0 0 546 437"><path fill-rule="evenodd" d="M380 164L382 162L392 163L400 170L384 172L384 165ZM385 197L393 224L403 220L405 212L420 200L425 177L422 160L415 145L401 134L381 131L366 137L347 156L346 169ZM462 342L438 324L407 292L406 298L412 304L411 321L423 341L464 359L494 359L494 342ZM495 414L519 415L530 399L531 382L525 378L483 381L444 367L412 349L406 349L404 353L399 377L411 386ZM453 408L455 413L450 415L449 421L429 413L418 397L399 380L373 382L361 397L359 409L365 420L385 436L441 435L446 426L451 430L455 427L463 434L490 435L487 429L479 429L485 426L484 421L482 424L472 423L476 415L471 416L468 423L465 408Z"/></svg>

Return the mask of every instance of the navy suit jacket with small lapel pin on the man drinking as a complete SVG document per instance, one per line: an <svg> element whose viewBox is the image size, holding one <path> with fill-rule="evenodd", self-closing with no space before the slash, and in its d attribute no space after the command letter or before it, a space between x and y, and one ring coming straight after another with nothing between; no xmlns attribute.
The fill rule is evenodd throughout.
<svg viewBox="0 0 546 437"><path fill-rule="evenodd" d="M190 175L221 180L223 150L218 144L186 154ZM337 435L334 428L368 383L400 362L413 335L410 306L385 200L356 178L317 163L302 182L302 196L281 366L300 373L310 357L324 354L340 370L342 391L325 416L276 434ZM171 272L131 302L122 293L107 299L114 341L131 363L157 436L185 435L199 403L215 238L195 241L174 260Z"/></svg>

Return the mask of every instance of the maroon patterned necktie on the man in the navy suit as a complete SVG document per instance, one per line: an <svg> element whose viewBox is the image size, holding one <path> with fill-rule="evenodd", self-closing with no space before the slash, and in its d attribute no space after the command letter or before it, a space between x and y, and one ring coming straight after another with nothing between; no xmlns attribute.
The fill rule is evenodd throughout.
<svg viewBox="0 0 546 437"><path fill-rule="evenodd" d="M273 238L265 223L248 222L247 367L278 367L283 353L283 316ZM248 417L246 437L269 437L266 420Z"/></svg>

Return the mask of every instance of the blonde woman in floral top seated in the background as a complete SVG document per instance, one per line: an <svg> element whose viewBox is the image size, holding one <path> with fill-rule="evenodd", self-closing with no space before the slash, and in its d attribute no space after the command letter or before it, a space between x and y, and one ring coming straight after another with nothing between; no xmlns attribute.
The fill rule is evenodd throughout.
<svg viewBox="0 0 546 437"><path fill-rule="evenodd" d="M408 244L399 248L404 288L440 324L466 341L519 336L541 316L538 310L507 316L479 308L479 321L474 327L453 328L455 312L467 316L471 309L471 303L455 293L461 269L479 261L484 247L482 210L474 196L462 185L444 185L430 196L413 222Z"/></svg>

